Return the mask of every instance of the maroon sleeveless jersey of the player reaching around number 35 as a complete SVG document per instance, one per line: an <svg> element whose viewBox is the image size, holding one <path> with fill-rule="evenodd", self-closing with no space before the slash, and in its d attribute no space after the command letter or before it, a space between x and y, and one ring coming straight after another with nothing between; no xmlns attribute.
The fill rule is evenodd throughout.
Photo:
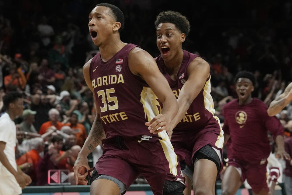
<svg viewBox="0 0 292 195"><path fill-rule="evenodd" d="M179 68L176 80L172 80L167 73L162 56L159 55L157 58L155 58L160 71L167 79L169 86L172 88L172 91L176 98L179 97L179 92L183 84L186 82L186 80L188 80L187 69L189 67L189 64L196 57L199 56L183 50L182 64ZM182 133L183 131L193 131L196 129L201 129L202 127L208 125L208 123L211 122L210 120L212 120L212 122L216 121L216 119L214 118L215 110L213 99L210 95L210 92L211 85L209 76L206 80L205 86L202 88L197 97L193 100L181 122L179 122L179 124L177 124L177 126L173 129L174 134Z"/></svg>

